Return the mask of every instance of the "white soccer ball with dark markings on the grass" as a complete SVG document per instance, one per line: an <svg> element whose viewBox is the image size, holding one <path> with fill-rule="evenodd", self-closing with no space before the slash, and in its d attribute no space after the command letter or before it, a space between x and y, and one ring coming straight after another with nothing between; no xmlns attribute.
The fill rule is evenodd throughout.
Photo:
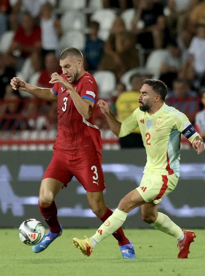
<svg viewBox="0 0 205 276"><path fill-rule="evenodd" d="M45 234L43 224L36 219L27 219L19 227L19 238L27 245L39 243Z"/></svg>

